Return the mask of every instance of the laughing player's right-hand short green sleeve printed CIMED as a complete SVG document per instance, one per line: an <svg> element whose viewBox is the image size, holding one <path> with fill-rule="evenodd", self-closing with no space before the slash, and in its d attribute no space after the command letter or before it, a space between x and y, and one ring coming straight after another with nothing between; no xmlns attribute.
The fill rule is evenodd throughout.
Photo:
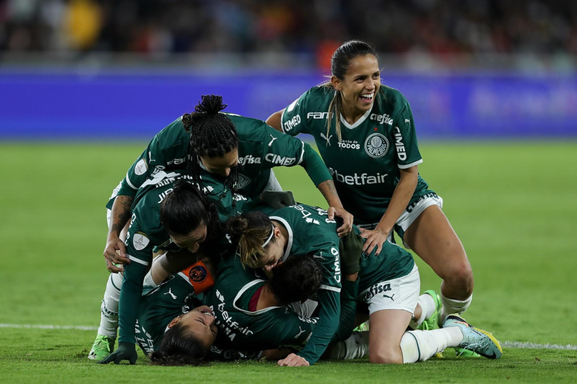
<svg viewBox="0 0 577 384"><path fill-rule="evenodd" d="M398 117L394 119L394 136L397 165L400 169L407 169L421 164L423 159L417 145L417 133L411 106L406 101Z"/></svg>

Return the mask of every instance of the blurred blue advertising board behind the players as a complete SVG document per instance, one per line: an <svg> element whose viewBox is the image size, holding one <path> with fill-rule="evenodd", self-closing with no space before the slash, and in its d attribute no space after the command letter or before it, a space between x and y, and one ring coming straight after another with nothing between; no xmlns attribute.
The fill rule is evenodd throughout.
<svg viewBox="0 0 577 384"><path fill-rule="evenodd" d="M421 139L577 137L577 75L382 75L409 100ZM150 138L209 93L225 111L265 120L321 82L274 71L0 69L0 139Z"/></svg>

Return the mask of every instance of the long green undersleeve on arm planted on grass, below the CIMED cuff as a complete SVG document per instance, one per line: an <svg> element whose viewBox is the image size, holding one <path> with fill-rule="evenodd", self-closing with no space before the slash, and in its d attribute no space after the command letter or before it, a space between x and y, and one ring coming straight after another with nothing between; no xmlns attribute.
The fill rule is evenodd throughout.
<svg viewBox="0 0 577 384"><path fill-rule="evenodd" d="M319 321L305 348L298 355L314 364L327 349L333 335L339 327L340 297L335 291L319 291Z"/></svg>

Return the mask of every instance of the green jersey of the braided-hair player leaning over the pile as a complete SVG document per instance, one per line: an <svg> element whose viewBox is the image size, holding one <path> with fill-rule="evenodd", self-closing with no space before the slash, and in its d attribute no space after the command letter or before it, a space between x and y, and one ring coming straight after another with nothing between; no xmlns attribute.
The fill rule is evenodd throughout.
<svg viewBox="0 0 577 384"><path fill-rule="evenodd" d="M301 165L314 185L330 180L331 174L319 155L306 143L290 138L269 127L264 121L226 113L238 134L238 189L249 199L264 191L271 168ZM186 147L190 135L182 117L160 131L134 161L122 180L118 195L134 196L137 189L159 170L182 169L186 164ZM108 208L111 207L109 203Z"/></svg>

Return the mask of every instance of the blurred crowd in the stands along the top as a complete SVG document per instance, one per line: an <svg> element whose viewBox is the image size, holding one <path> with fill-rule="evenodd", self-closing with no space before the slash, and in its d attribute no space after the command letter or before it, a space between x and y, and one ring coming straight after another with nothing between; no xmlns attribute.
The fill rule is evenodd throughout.
<svg viewBox="0 0 577 384"><path fill-rule="evenodd" d="M0 0L0 51L577 54L575 0Z"/></svg>

